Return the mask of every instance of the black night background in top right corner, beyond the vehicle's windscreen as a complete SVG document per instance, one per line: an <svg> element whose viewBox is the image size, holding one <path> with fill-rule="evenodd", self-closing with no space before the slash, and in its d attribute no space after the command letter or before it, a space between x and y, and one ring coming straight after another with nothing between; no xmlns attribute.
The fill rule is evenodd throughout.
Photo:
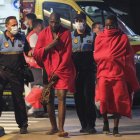
<svg viewBox="0 0 140 140"><path fill-rule="evenodd" d="M140 0L104 0L109 6L128 13L123 16L125 23L140 35Z"/></svg>

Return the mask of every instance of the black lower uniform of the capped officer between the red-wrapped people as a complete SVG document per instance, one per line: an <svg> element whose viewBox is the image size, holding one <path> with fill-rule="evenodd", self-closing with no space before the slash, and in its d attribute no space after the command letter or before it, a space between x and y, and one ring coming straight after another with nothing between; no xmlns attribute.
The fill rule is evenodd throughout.
<svg viewBox="0 0 140 140"><path fill-rule="evenodd" d="M77 54L76 54L77 55ZM77 71L76 77L76 93L74 94L77 115L79 117L83 129L92 129L95 127L96 111L95 111L95 70L91 68L90 63L73 55L74 64ZM90 54L88 53L88 56ZM76 58L75 58L76 56ZM78 58L78 59L77 59ZM82 61L82 65L80 62Z"/></svg>

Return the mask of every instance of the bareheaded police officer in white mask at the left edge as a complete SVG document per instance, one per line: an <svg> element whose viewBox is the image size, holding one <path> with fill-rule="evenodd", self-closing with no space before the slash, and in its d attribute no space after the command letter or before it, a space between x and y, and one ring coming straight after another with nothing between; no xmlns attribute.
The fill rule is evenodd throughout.
<svg viewBox="0 0 140 140"><path fill-rule="evenodd" d="M6 85L11 85L12 98L15 108L16 122L20 133L27 133L28 119L26 114L24 92L24 55L30 47L25 37L18 33L16 17L7 17L6 31L0 33L0 114L2 112L2 94Z"/></svg>

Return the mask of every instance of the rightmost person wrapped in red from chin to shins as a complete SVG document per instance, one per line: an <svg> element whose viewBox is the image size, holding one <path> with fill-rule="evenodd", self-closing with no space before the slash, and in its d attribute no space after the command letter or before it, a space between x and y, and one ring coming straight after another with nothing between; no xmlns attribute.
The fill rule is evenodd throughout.
<svg viewBox="0 0 140 140"><path fill-rule="evenodd" d="M109 133L107 113L114 114L113 134L119 135L119 117L131 117L132 93L139 87L134 66L134 52L128 37L108 16L105 29L95 40L94 59L97 64L95 100L100 102L104 118L103 133Z"/></svg>

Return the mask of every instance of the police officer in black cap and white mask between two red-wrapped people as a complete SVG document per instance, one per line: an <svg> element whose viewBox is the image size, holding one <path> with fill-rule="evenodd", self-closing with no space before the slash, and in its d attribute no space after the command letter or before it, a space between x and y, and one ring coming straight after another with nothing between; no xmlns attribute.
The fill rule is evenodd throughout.
<svg viewBox="0 0 140 140"><path fill-rule="evenodd" d="M77 71L75 104L81 123L81 133L96 133L94 104L95 64L93 60L94 34L86 25L86 15L77 13L72 32L72 57Z"/></svg>

